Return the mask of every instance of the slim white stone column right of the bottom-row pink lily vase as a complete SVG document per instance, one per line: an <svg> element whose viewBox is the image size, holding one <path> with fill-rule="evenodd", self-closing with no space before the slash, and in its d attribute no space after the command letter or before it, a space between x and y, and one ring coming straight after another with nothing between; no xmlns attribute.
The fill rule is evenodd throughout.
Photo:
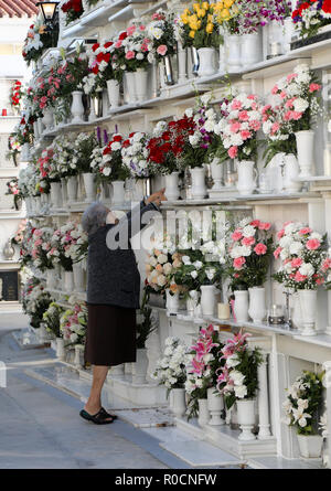
<svg viewBox="0 0 331 491"><path fill-rule="evenodd" d="M265 440L271 437L269 419L269 396L267 377L267 353L263 353L263 363L258 367L258 440Z"/></svg>

